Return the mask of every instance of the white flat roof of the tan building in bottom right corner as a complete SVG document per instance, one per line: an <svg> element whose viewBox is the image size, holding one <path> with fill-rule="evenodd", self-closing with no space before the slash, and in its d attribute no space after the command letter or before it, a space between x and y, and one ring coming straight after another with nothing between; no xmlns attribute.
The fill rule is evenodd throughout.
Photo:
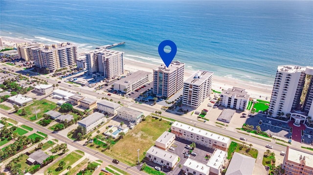
<svg viewBox="0 0 313 175"><path fill-rule="evenodd" d="M295 162L295 163L302 163L305 166L313 168L313 153L311 152L304 152L302 150L287 147L286 151L287 160Z"/></svg>

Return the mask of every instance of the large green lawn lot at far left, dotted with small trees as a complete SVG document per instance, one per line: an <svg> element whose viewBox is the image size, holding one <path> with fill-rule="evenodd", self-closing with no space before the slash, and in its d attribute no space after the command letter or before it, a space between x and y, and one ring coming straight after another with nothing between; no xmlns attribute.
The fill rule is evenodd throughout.
<svg viewBox="0 0 313 175"><path fill-rule="evenodd" d="M27 120L36 120L36 115L33 110L34 107L37 108L37 117L42 118L46 112L56 108L57 105L54 102L48 101L46 99L34 100L34 102L31 105L24 107L24 109L26 110L26 115L21 116L21 117ZM19 111L16 114L20 116L21 113L22 113L22 108L19 109Z"/></svg>

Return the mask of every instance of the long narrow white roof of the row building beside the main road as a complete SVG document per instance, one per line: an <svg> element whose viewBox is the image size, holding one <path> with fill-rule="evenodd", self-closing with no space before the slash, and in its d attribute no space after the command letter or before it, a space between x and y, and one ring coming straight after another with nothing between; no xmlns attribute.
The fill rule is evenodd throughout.
<svg viewBox="0 0 313 175"><path fill-rule="evenodd" d="M203 137L211 138L213 140L217 140L217 141L225 143L225 144L228 144L230 142L229 137L225 137L225 136L221 136L221 135L218 135L218 134L214 134L214 133L211 133L209 131L206 131L206 130L203 130L203 129L199 129L199 128L196 128L196 127L191 126L191 125L180 123L178 121L175 121L172 124L172 127L177 127L177 128L182 129L182 130L189 131L191 133L195 133L195 134L201 135Z"/></svg>

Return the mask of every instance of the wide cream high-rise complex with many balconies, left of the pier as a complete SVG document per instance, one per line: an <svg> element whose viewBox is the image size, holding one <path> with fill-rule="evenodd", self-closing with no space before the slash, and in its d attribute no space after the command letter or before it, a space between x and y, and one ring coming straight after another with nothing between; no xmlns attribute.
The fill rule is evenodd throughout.
<svg viewBox="0 0 313 175"><path fill-rule="evenodd" d="M45 45L45 47L32 48L35 65L39 68L48 68L54 72L62 67L76 64L77 46L69 42Z"/></svg>

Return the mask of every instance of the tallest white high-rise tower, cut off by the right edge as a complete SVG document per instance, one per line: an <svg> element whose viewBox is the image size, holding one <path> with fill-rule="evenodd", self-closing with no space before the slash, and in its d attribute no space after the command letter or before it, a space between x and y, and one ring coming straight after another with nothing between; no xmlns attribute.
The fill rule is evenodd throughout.
<svg viewBox="0 0 313 175"><path fill-rule="evenodd" d="M313 117L313 67L278 66L268 114L291 114L296 125Z"/></svg>

